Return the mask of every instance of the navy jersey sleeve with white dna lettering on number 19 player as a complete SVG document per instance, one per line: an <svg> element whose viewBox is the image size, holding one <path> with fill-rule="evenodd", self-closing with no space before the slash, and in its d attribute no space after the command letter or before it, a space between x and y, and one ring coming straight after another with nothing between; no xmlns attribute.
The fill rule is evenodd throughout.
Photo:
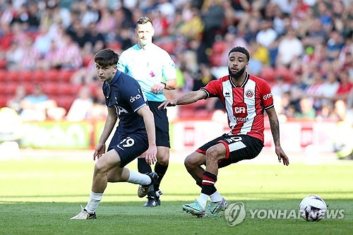
<svg viewBox="0 0 353 235"><path fill-rule="evenodd" d="M124 90L124 99L130 104L133 112L136 112L141 107L147 105L147 100L138 83L133 79L131 79L131 81L134 83L131 83L131 85Z"/></svg>

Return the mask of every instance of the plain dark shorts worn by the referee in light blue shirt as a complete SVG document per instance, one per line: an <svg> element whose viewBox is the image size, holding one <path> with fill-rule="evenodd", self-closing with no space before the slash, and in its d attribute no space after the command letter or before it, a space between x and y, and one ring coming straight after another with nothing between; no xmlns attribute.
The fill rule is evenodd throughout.
<svg viewBox="0 0 353 235"><path fill-rule="evenodd" d="M155 144L157 146L170 147L167 109L158 109L160 104L162 102L148 102L148 107L150 107L153 116L155 116Z"/></svg>

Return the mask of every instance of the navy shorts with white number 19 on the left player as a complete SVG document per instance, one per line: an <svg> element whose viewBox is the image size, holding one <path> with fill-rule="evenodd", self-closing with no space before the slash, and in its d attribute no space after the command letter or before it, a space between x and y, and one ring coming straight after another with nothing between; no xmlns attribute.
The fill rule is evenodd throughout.
<svg viewBox="0 0 353 235"><path fill-rule="evenodd" d="M116 131L109 144L108 151L114 149L121 159L120 167L132 162L148 150L148 136L145 131L138 133L121 134Z"/></svg>

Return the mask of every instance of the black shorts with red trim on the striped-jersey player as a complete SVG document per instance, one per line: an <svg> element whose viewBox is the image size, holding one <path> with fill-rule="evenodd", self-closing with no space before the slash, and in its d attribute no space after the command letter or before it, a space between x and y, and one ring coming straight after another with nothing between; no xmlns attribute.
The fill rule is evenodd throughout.
<svg viewBox="0 0 353 235"><path fill-rule="evenodd" d="M198 148L196 152L206 154L208 148L213 145L222 143L226 148L225 159L218 161L218 167L227 167L229 164L239 162L244 159L253 159L263 149L263 142L258 138L253 138L249 135L228 135L224 134L202 147Z"/></svg>

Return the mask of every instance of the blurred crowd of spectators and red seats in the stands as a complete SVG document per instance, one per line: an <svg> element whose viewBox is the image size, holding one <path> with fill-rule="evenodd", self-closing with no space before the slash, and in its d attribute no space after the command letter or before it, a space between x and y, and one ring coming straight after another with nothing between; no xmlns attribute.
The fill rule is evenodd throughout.
<svg viewBox="0 0 353 235"><path fill-rule="evenodd" d="M271 85L280 119L352 116L350 0L0 0L0 107L25 121L104 119L93 56L136 43L135 22L153 20L153 42L171 54L178 89L227 75L232 47L249 49L248 72ZM180 107L212 117L219 102Z"/></svg>

